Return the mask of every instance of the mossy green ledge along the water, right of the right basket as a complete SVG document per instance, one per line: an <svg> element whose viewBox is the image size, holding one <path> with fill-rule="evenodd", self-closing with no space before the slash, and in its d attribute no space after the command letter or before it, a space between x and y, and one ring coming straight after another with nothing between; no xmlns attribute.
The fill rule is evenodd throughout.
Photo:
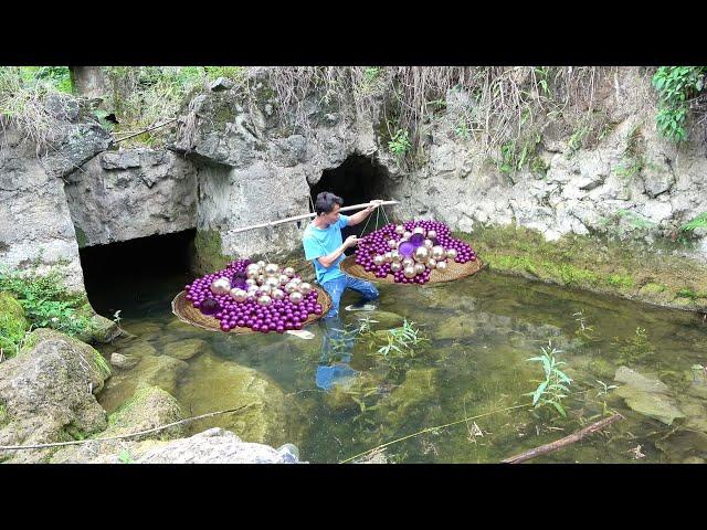
<svg viewBox="0 0 707 530"><path fill-rule="evenodd" d="M453 236L468 242L484 263L502 273L659 305L707 309L707 298L678 295L687 288L707 293L707 266L672 255L668 251L679 244L667 240L647 246L599 234L568 234L550 242L536 230L514 224L479 226L472 234L456 232Z"/></svg>

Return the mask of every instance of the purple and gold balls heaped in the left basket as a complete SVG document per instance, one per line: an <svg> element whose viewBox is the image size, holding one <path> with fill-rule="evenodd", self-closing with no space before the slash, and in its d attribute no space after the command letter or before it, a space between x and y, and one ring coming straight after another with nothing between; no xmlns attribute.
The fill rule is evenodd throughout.
<svg viewBox="0 0 707 530"><path fill-rule="evenodd" d="M318 293L295 274L265 262L236 259L224 269L184 286L187 299L229 332L236 327L284 333L302 329L312 315L321 315Z"/></svg>

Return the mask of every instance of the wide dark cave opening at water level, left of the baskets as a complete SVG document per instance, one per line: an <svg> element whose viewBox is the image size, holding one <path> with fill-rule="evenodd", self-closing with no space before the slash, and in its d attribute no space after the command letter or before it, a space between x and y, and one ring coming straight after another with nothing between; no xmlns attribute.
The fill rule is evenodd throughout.
<svg viewBox="0 0 707 530"><path fill-rule="evenodd" d="M84 285L93 308L107 318L118 309L122 318L163 314L193 279L189 257L196 233L192 229L81 248Z"/></svg>

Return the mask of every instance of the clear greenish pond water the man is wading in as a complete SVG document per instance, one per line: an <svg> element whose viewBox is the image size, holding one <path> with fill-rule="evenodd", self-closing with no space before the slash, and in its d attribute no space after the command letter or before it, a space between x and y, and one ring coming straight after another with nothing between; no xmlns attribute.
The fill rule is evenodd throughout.
<svg viewBox="0 0 707 530"><path fill-rule="evenodd" d="M372 458L497 463L616 411L625 418L605 432L529 462L707 458L707 373L697 368L707 364L707 325L699 315L484 271L424 288L383 285L379 311L341 311L348 329L363 317L378 320L373 329L402 318L415 322L429 341L413 354L379 354L386 342L371 346L363 336L355 343L335 338L323 353L320 325L305 328L315 338L304 340L179 322L170 301L189 279L115 278L91 293L99 312L110 318L120 309L122 326L136 335L101 348L107 358L114 351L139 358L130 370L115 369L98 396L108 412L148 382L172 393L184 416L250 403L247 413L199 421L191 432L222 426L246 441L294 443L310 463L344 462L399 438ZM355 300L347 293L341 307ZM377 335L380 341L387 332ZM567 417L518 406L530 402L524 394L544 375L540 363L527 359L549 343L561 350L557 359L572 378ZM633 373L626 369L648 381L614 381L618 370ZM604 393L599 381L622 388Z"/></svg>

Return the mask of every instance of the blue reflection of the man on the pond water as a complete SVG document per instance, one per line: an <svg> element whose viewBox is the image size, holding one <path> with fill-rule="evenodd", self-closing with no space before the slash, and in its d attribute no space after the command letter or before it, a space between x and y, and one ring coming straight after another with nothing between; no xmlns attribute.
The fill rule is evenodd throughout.
<svg viewBox="0 0 707 530"><path fill-rule="evenodd" d="M349 365L355 337L346 331L338 315L321 319L319 325L323 339L316 382L318 388L329 391L335 384L342 384L359 373Z"/></svg>

